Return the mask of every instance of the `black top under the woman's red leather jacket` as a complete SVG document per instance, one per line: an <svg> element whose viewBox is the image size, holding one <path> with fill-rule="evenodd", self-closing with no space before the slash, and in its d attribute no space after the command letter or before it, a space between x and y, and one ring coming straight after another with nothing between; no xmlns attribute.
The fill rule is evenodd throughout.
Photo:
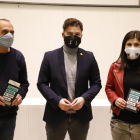
<svg viewBox="0 0 140 140"><path fill-rule="evenodd" d="M124 72L124 100L126 100L129 89L135 89L140 91L140 74L138 69L140 66L140 58L136 60L127 60L128 66ZM119 116L115 115L116 119L120 119L127 123L140 123L140 111L137 113L128 111L126 109L121 110Z"/></svg>

